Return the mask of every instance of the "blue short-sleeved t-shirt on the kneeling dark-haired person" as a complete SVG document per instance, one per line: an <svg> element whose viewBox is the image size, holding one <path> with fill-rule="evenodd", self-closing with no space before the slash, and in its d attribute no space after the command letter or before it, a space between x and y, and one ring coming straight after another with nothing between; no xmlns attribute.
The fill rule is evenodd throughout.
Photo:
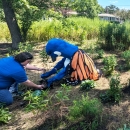
<svg viewBox="0 0 130 130"><path fill-rule="evenodd" d="M14 82L22 83L27 80L24 67L14 57L0 59L0 89L9 88Z"/></svg>

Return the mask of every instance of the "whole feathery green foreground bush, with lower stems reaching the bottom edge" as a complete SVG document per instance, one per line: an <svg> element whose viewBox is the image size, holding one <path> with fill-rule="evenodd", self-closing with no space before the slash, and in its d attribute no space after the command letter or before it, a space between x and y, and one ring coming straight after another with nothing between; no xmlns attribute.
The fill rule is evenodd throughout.
<svg viewBox="0 0 130 130"><path fill-rule="evenodd" d="M86 129L94 130L98 127L98 120L102 113L102 105L98 99L90 99L82 96L81 100L74 100L69 108L69 118L78 119L84 117L87 121Z"/></svg>

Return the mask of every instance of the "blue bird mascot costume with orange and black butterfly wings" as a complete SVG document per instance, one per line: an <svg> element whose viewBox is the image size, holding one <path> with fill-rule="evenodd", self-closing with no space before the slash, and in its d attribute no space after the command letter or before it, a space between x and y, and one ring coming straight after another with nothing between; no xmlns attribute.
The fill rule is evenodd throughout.
<svg viewBox="0 0 130 130"><path fill-rule="evenodd" d="M50 39L46 45L46 53L51 56L53 62L58 56L63 57L52 70L41 75L44 79L55 74L47 79L47 87L64 77L70 85L77 85L86 79L98 80L100 77L93 60L78 46L67 41L58 38Z"/></svg>

